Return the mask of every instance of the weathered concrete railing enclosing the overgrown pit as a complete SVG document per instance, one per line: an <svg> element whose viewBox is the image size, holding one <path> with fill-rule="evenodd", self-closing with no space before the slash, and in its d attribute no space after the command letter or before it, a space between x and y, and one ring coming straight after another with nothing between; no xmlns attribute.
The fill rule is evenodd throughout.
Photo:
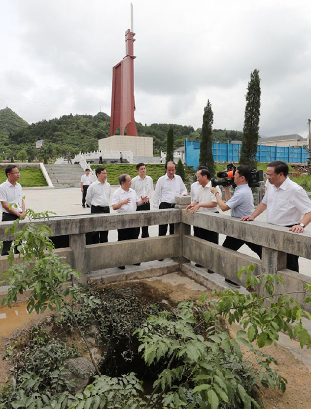
<svg viewBox="0 0 311 409"><path fill-rule="evenodd" d="M281 275L284 286L277 286L276 293L294 292L297 301L311 312L311 306L303 304L303 294L298 293L304 290L306 283L311 283L311 278L286 269L286 252L311 259L310 232L298 235L281 226L256 221L241 222L223 214L190 213L183 210L189 201L189 197L176 197L175 209L53 217L46 224L52 229L54 237L69 236L69 247L58 248L55 252L64 256L73 268L81 271L81 281L84 283L87 271L173 257L179 261L181 269L191 260L245 286L245 278L239 280L237 271L242 266L253 264L256 266L253 274ZM174 235L85 244L85 235L89 232L166 223L175 223ZM9 239L4 231L10 224L3 222L0 225L0 240L4 237ZM262 246L262 260L193 237L190 235L191 225L259 244ZM0 257L0 272L7 268L7 256ZM262 289L258 291L262 292Z"/></svg>

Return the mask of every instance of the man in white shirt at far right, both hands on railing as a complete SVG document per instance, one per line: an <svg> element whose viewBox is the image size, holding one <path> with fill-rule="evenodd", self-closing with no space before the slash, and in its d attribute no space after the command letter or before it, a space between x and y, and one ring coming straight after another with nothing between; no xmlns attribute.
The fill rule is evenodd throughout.
<svg viewBox="0 0 311 409"><path fill-rule="evenodd" d="M311 200L306 191L287 175L285 162L270 162L266 168L266 177L270 182L268 189L257 209L241 220L252 221L266 210L268 223L289 227L294 233L303 233L311 221ZM298 256L287 253L286 268L299 272Z"/></svg>

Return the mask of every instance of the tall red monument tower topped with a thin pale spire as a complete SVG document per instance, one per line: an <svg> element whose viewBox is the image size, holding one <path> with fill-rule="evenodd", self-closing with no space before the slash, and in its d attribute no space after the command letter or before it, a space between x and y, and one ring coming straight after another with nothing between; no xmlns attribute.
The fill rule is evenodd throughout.
<svg viewBox="0 0 311 409"><path fill-rule="evenodd" d="M110 137L120 126L120 135L126 134L138 137L134 111L134 41L135 33L132 24L131 5L131 30L125 32L125 57L113 67L113 89L110 117Z"/></svg>

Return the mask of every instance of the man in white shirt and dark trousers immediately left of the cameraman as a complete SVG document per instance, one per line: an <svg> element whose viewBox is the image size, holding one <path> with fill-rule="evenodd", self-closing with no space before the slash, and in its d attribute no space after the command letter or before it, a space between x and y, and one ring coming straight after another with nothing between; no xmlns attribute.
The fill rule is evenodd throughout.
<svg viewBox="0 0 311 409"><path fill-rule="evenodd" d="M191 213L202 212L208 213L219 213L217 207L217 200L215 195L211 192L211 174L207 169L201 169L196 172L196 178L199 186L196 190L194 201L186 208L190 210ZM212 232L207 229L197 227L194 231L195 237L200 239L210 241L212 243L218 244L218 233ZM201 267L199 264L195 264L197 267ZM208 269L210 274L214 271Z"/></svg>

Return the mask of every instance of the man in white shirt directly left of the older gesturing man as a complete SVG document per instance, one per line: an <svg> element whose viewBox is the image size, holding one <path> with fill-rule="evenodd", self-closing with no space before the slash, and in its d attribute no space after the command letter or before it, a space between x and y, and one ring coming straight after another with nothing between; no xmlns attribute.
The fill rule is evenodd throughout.
<svg viewBox="0 0 311 409"><path fill-rule="evenodd" d="M86 203L91 207L91 213L110 213L109 200L111 187L107 182L106 168L99 167L95 170L95 180L86 192ZM86 244L106 243L108 231L94 232L86 235Z"/></svg>

